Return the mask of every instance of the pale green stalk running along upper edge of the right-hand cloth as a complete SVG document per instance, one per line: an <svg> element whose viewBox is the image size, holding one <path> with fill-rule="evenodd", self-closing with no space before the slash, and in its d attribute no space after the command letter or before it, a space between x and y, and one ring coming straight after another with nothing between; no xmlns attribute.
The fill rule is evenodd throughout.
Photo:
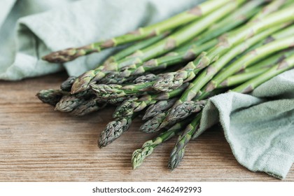
<svg viewBox="0 0 294 196"><path fill-rule="evenodd" d="M253 78L251 80L248 80L248 82L243 83L239 85L238 87L235 87L234 89L232 89L232 91L241 92L241 93L251 92L256 87L258 87L262 83L265 83L265 81L269 80L270 78L273 78L274 76L277 76L280 73L283 73L284 71L292 69L293 67L294 67L294 55L290 55L290 57L283 59L282 62L280 62L279 64L276 64L265 73L262 73L260 76Z"/></svg>

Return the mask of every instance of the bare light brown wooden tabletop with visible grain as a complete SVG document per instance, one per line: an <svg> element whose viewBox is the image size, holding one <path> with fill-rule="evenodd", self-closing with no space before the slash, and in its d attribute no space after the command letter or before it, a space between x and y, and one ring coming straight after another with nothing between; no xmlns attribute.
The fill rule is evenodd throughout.
<svg viewBox="0 0 294 196"><path fill-rule="evenodd" d="M141 120L106 148L97 139L114 108L73 117L35 96L58 88L66 73L18 82L0 81L0 181L280 181L239 165L216 126L191 141L180 167L167 169L175 139L132 170L132 152L155 134L138 131ZM283 181L294 181L294 166Z"/></svg>

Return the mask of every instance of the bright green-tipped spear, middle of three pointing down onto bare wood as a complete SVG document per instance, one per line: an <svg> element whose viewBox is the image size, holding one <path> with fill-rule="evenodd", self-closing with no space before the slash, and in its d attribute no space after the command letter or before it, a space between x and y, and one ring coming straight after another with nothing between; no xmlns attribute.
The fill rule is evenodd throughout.
<svg viewBox="0 0 294 196"><path fill-rule="evenodd" d="M181 121L181 123L176 123L176 125L169 128L166 132L162 132L158 137L155 137L155 139L146 141L141 148L137 149L132 154L132 168L137 169L143 163L145 158L151 155L157 146L174 137L185 125L190 123L191 120L192 119L189 118Z"/></svg>

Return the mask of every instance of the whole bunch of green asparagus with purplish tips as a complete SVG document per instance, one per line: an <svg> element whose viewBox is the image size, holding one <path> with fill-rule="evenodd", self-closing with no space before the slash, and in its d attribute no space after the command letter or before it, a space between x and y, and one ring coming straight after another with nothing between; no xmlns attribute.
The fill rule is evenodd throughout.
<svg viewBox="0 0 294 196"><path fill-rule="evenodd" d="M55 110L83 116L117 106L101 133L100 148L127 131L134 118L142 132L158 132L132 155L132 167L179 135L169 169L179 166L199 130L209 98L249 93L294 66L293 0L209 0L129 34L53 52L48 62L68 62L92 52L132 43L96 69L69 77L59 90L37 96Z"/></svg>

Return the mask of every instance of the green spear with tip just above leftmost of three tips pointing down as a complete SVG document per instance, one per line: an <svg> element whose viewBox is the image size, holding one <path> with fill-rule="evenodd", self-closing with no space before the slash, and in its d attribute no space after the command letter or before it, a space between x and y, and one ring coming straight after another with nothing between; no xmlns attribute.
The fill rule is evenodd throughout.
<svg viewBox="0 0 294 196"><path fill-rule="evenodd" d="M125 100L123 104L116 108L116 111L113 113L114 118L123 117L123 116L131 116L134 112L142 111L151 104L155 104L160 99L170 99L176 96L179 96L186 87L188 87L188 83L183 84L176 90L172 92L162 92L160 94L146 94L141 98L133 97L131 99Z"/></svg>

